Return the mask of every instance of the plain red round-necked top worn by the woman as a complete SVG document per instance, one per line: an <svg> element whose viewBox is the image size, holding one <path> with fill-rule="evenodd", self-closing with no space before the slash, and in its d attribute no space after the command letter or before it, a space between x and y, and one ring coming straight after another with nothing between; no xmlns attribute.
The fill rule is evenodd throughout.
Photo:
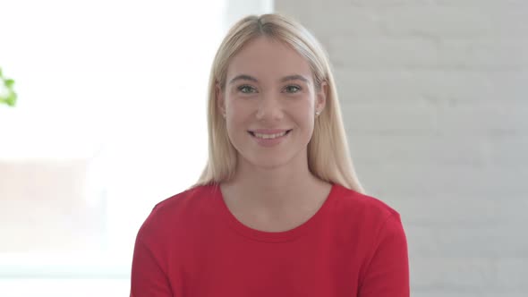
<svg viewBox="0 0 528 297"><path fill-rule="evenodd" d="M319 211L285 232L240 223L217 185L166 199L138 233L133 297L407 297L398 213L334 184Z"/></svg>

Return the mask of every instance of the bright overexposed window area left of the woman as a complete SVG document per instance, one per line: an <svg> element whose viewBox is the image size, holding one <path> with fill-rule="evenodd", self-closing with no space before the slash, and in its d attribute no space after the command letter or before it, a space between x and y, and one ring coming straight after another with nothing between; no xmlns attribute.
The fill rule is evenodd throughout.
<svg viewBox="0 0 528 297"><path fill-rule="evenodd" d="M205 165L217 45L271 2L17 0L0 10L0 67L19 95L0 106L0 292L126 295L141 223Z"/></svg>

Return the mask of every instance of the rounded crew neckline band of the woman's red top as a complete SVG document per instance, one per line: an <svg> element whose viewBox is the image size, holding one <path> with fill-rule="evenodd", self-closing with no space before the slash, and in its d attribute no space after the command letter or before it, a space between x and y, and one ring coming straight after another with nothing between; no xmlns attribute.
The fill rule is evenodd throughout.
<svg viewBox="0 0 528 297"><path fill-rule="evenodd" d="M319 207L317 212L311 216L307 221L294 227L293 229L281 231L281 232L268 232L261 231L258 229L253 229L250 226L243 225L241 221L233 215L231 210L226 205L222 191L220 190L220 185L215 184L214 197L219 209L220 216L223 221L229 225L236 233L243 235L246 238L259 242L289 242L294 241L298 237L302 236L303 233L309 232L315 226L319 225L319 222L325 216L331 201L336 197L336 191L338 189L336 183L332 183L332 187L328 193L327 198L323 204Z"/></svg>

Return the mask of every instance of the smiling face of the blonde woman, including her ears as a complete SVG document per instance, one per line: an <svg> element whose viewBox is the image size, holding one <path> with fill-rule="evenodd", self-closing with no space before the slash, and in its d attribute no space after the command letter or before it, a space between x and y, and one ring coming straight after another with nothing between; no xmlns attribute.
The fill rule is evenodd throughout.
<svg viewBox="0 0 528 297"><path fill-rule="evenodd" d="M246 44L230 61L225 88L217 86L218 111L226 115L238 162L266 168L306 163L326 89L314 86L310 64L293 48L270 38Z"/></svg>

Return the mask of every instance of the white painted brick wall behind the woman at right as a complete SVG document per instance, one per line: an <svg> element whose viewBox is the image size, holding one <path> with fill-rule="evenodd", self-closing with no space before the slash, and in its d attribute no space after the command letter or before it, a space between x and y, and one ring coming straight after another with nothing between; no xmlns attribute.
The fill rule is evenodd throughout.
<svg viewBox="0 0 528 297"><path fill-rule="evenodd" d="M413 296L528 296L528 1L276 0L327 48Z"/></svg>

